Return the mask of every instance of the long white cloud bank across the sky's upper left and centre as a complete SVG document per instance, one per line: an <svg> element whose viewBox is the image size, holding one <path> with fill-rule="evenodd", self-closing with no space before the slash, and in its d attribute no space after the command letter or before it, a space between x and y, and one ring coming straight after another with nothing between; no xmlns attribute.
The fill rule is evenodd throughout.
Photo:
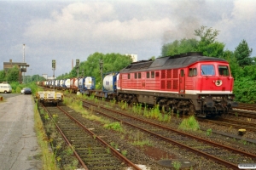
<svg viewBox="0 0 256 170"><path fill-rule="evenodd" d="M159 38L172 27L168 18L121 21L116 16L109 3L73 3L61 13L53 12L51 19L32 20L25 35L37 38L38 42L118 42Z"/></svg>

